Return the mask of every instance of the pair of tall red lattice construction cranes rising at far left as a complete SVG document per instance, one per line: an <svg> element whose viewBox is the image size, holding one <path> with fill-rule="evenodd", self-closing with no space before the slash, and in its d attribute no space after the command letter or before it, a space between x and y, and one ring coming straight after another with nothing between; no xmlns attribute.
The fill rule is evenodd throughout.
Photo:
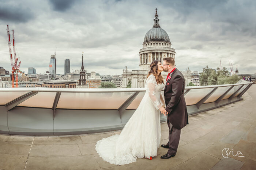
<svg viewBox="0 0 256 170"><path fill-rule="evenodd" d="M19 67L20 67L21 62L19 62L19 65L17 66L18 58L16 57L14 30L13 29L12 29L12 46L13 46L14 56L12 56L11 37L10 37L9 25L7 25L7 40L8 40L10 60L11 60L11 66L12 66L12 87L18 87L18 72L21 72L21 71L19 71ZM16 73L16 81L14 83L15 73Z"/></svg>

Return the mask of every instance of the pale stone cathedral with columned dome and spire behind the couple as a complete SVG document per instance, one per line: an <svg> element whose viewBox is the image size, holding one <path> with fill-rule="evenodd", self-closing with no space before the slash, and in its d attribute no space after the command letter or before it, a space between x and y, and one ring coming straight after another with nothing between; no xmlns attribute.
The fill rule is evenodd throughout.
<svg viewBox="0 0 256 170"><path fill-rule="evenodd" d="M164 29L160 27L157 8L155 11L154 25L150 29L143 41L143 48L139 51L139 68L140 70L129 71L127 67L123 70L123 88L126 88L131 80L132 88L145 87L150 63L154 60L163 61L163 58L172 57L175 60L175 50L172 48L169 36ZM166 79L166 72L161 73L163 79ZM182 71L186 80L186 85L191 82L191 71Z"/></svg>

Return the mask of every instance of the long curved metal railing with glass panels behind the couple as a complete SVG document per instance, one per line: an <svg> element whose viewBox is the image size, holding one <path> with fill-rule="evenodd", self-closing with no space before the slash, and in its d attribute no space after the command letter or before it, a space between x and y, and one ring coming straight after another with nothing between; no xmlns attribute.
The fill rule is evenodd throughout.
<svg viewBox="0 0 256 170"><path fill-rule="evenodd" d="M185 87L188 114L241 100L253 83ZM0 133L82 134L120 130L139 106L145 88L0 88ZM162 91L163 92L163 91ZM166 117L161 114L161 122Z"/></svg>

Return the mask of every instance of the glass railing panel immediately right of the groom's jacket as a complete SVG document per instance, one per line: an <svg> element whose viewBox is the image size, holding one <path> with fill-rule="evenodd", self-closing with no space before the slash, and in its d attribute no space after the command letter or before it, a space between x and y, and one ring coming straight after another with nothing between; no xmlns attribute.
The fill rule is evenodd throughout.
<svg viewBox="0 0 256 170"><path fill-rule="evenodd" d="M193 105L199 102L204 98L208 93L210 93L214 88L200 88L200 89L191 89L186 95L185 100L186 104Z"/></svg>

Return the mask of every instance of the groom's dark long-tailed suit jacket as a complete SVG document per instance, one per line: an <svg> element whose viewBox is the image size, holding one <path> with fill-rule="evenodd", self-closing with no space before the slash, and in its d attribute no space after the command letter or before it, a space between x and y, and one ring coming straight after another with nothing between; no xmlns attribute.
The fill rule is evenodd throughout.
<svg viewBox="0 0 256 170"><path fill-rule="evenodd" d="M168 112L167 119L176 129L182 129L188 124L187 105L184 97L185 79L176 68L165 84L165 104Z"/></svg>

